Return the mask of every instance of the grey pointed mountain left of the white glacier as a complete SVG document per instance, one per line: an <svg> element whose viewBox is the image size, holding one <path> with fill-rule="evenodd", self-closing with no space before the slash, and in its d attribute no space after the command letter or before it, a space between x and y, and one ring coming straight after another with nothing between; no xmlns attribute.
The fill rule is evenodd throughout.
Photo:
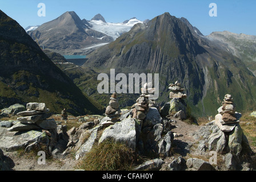
<svg viewBox="0 0 256 182"><path fill-rule="evenodd" d="M110 36L92 30L74 11L67 11L58 18L42 24L37 30L27 33L41 47L55 49L63 54L79 52L79 49L91 44L113 40Z"/></svg>

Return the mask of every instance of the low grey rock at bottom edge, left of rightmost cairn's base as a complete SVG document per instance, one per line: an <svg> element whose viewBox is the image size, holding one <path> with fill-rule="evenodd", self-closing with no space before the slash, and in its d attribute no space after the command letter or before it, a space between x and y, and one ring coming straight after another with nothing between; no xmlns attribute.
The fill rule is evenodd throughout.
<svg viewBox="0 0 256 182"><path fill-rule="evenodd" d="M202 159L189 158L186 161L186 165L193 171L215 171L209 162Z"/></svg>

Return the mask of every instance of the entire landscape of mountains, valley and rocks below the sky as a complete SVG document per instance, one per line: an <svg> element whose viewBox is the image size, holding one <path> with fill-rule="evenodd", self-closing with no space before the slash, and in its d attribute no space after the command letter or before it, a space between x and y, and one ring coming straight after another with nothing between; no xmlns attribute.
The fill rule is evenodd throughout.
<svg viewBox="0 0 256 182"><path fill-rule="evenodd" d="M0 50L0 169L255 171L254 35L0 10Z"/></svg>

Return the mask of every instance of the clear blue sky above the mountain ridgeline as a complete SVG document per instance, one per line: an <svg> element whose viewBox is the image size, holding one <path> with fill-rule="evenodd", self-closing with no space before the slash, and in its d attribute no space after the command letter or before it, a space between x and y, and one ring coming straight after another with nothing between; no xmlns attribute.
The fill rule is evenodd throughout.
<svg viewBox="0 0 256 182"><path fill-rule="evenodd" d="M37 15L38 3L45 3L45 17ZM217 17L209 16L210 3L216 3ZM49 22L66 11L75 11L87 20L100 13L106 22L115 23L134 16L142 21L153 19L169 12L188 19L204 35L225 30L256 35L255 0L0 0L0 9L23 28Z"/></svg>

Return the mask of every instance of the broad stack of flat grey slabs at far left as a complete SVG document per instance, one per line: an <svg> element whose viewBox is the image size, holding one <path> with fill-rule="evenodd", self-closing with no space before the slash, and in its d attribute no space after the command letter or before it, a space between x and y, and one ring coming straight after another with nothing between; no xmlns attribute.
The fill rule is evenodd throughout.
<svg viewBox="0 0 256 182"><path fill-rule="evenodd" d="M30 130L50 130L56 129L57 123L51 117L49 109L45 103L31 102L26 105L26 111L17 113L21 117L17 118L18 123L10 127L9 131L30 131Z"/></svg>

